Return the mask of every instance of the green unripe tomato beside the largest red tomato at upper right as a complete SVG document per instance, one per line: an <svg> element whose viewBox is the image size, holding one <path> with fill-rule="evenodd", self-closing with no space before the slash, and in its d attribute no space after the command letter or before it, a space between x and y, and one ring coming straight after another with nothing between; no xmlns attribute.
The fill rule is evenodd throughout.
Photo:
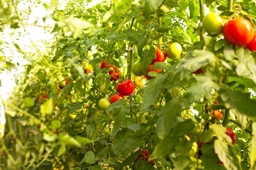
<svg viewBox="0 0 256 170"><path fill-rule="evenodd" d="M209 13L204 17L202 23L205 31L209 35L216 36L221 34L223 20L219 15Z"/></svg>

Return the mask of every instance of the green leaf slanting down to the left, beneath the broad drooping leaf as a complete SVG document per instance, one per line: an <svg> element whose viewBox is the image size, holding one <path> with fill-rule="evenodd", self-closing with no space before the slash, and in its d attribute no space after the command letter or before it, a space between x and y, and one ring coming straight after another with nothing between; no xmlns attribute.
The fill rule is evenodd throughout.
<svg viewBox="0 0 256 170"><path fill-rule="evenodd" d="M166 137L160 141L150 155L149 160L157 159L160 156L166 156L168 153L172 153L175 150L175 146L178 144L178 137Z"/></svg>

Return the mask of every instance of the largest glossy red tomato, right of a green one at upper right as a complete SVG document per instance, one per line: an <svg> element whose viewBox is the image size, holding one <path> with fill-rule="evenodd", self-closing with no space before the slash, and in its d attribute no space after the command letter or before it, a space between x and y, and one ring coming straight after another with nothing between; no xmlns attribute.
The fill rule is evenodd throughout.
<svg viewBox="0 0 256 170"><path fill-rule="evenodd" d="M223 34L231 45L245 46L253 40L253 24L244 18L235 18L224 25Z"/></svg>

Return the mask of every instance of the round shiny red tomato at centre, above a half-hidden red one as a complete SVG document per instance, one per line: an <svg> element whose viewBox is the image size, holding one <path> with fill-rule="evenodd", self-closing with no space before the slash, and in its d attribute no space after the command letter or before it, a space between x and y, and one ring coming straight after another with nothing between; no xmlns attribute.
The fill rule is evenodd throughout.
<svg viewBox="0 0 256 170"><path fill-rule="evenodd" d="M117 92L123 96L128 96L134 91L134 82L131 80L125 80L124 82L119 82L116 89Z"/></svg>

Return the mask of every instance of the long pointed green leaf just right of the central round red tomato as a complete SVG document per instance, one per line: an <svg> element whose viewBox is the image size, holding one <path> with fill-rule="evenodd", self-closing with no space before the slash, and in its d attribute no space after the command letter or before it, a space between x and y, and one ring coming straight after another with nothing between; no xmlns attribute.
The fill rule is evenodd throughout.
<svg viewBox="0 0 256 170"><path fill-rule="evenodd" d="M147 87L144 88L142 108L151 106L158 96L160 96L164 85L163 80L166 79L167 76L168 74L165 74L161 77L153 78L145 84Z"/></svg>

